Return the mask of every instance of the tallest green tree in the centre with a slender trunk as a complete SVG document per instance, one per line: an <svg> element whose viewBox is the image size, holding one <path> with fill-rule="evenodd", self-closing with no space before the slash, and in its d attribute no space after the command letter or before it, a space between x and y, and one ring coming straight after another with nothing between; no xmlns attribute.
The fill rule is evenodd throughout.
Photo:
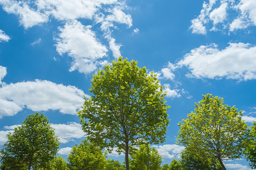
<svg viewBox="0 0 256 170"><path fill-rule="evenodd" d="M109 152L114 147L124 152L127 170L133 146L164 142L169 123L163 87L156 74L137 63L120 56L98 70L89 89L93 96L78 112L90 141Z"/></svg>

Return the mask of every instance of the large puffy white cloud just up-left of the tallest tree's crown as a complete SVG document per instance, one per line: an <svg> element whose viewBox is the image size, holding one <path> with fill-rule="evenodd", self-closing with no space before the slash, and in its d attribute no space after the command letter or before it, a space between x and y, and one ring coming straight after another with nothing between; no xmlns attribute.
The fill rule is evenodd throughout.
<svg viewBox="0 0 256 170"><path fill-rule="evenodd" d="M60 55L68 53L73 58L70 71L77 69L82 73L90 73L97 69L97 60L105 57L108 50L96 39L91 26L72 21L58 29L60 34L56 39L56 50Z"/></svg>

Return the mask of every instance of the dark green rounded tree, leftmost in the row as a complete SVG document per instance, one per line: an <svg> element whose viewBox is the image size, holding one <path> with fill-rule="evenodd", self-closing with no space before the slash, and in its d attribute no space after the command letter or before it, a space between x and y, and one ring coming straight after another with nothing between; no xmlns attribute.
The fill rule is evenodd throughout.
<svg viewBox="0 0 256 170"><path fill-rule="evenodd" d="M7 134L1 150L1 162L46 168L58 151L58 138L42 113L28 115L25 121Z"/></svg>

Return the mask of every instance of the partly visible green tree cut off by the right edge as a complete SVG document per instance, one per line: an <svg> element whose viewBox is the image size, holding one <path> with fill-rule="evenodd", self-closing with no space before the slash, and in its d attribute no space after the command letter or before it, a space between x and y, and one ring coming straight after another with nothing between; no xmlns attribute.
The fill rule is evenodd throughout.
<svg viewBox="0 0 256 170"><path fill-rule="evenodd" d="M250 161L250 167L256 168L256 122L253 122L253 126L251 126L249 140L250 142L244 151L244 155Z"/></svg>

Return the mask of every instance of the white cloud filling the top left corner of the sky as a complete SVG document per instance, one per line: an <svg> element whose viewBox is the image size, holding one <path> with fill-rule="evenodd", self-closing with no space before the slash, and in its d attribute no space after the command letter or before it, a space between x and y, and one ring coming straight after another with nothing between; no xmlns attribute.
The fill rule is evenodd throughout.
<svg viewBox="0 0 256 170"><path fill-rule="evenodd" d="M48 16L29 7L27 1L1 1L0 5L9 14L15 14L20 18L20 24L26 29L48 21Z"/></svg>

